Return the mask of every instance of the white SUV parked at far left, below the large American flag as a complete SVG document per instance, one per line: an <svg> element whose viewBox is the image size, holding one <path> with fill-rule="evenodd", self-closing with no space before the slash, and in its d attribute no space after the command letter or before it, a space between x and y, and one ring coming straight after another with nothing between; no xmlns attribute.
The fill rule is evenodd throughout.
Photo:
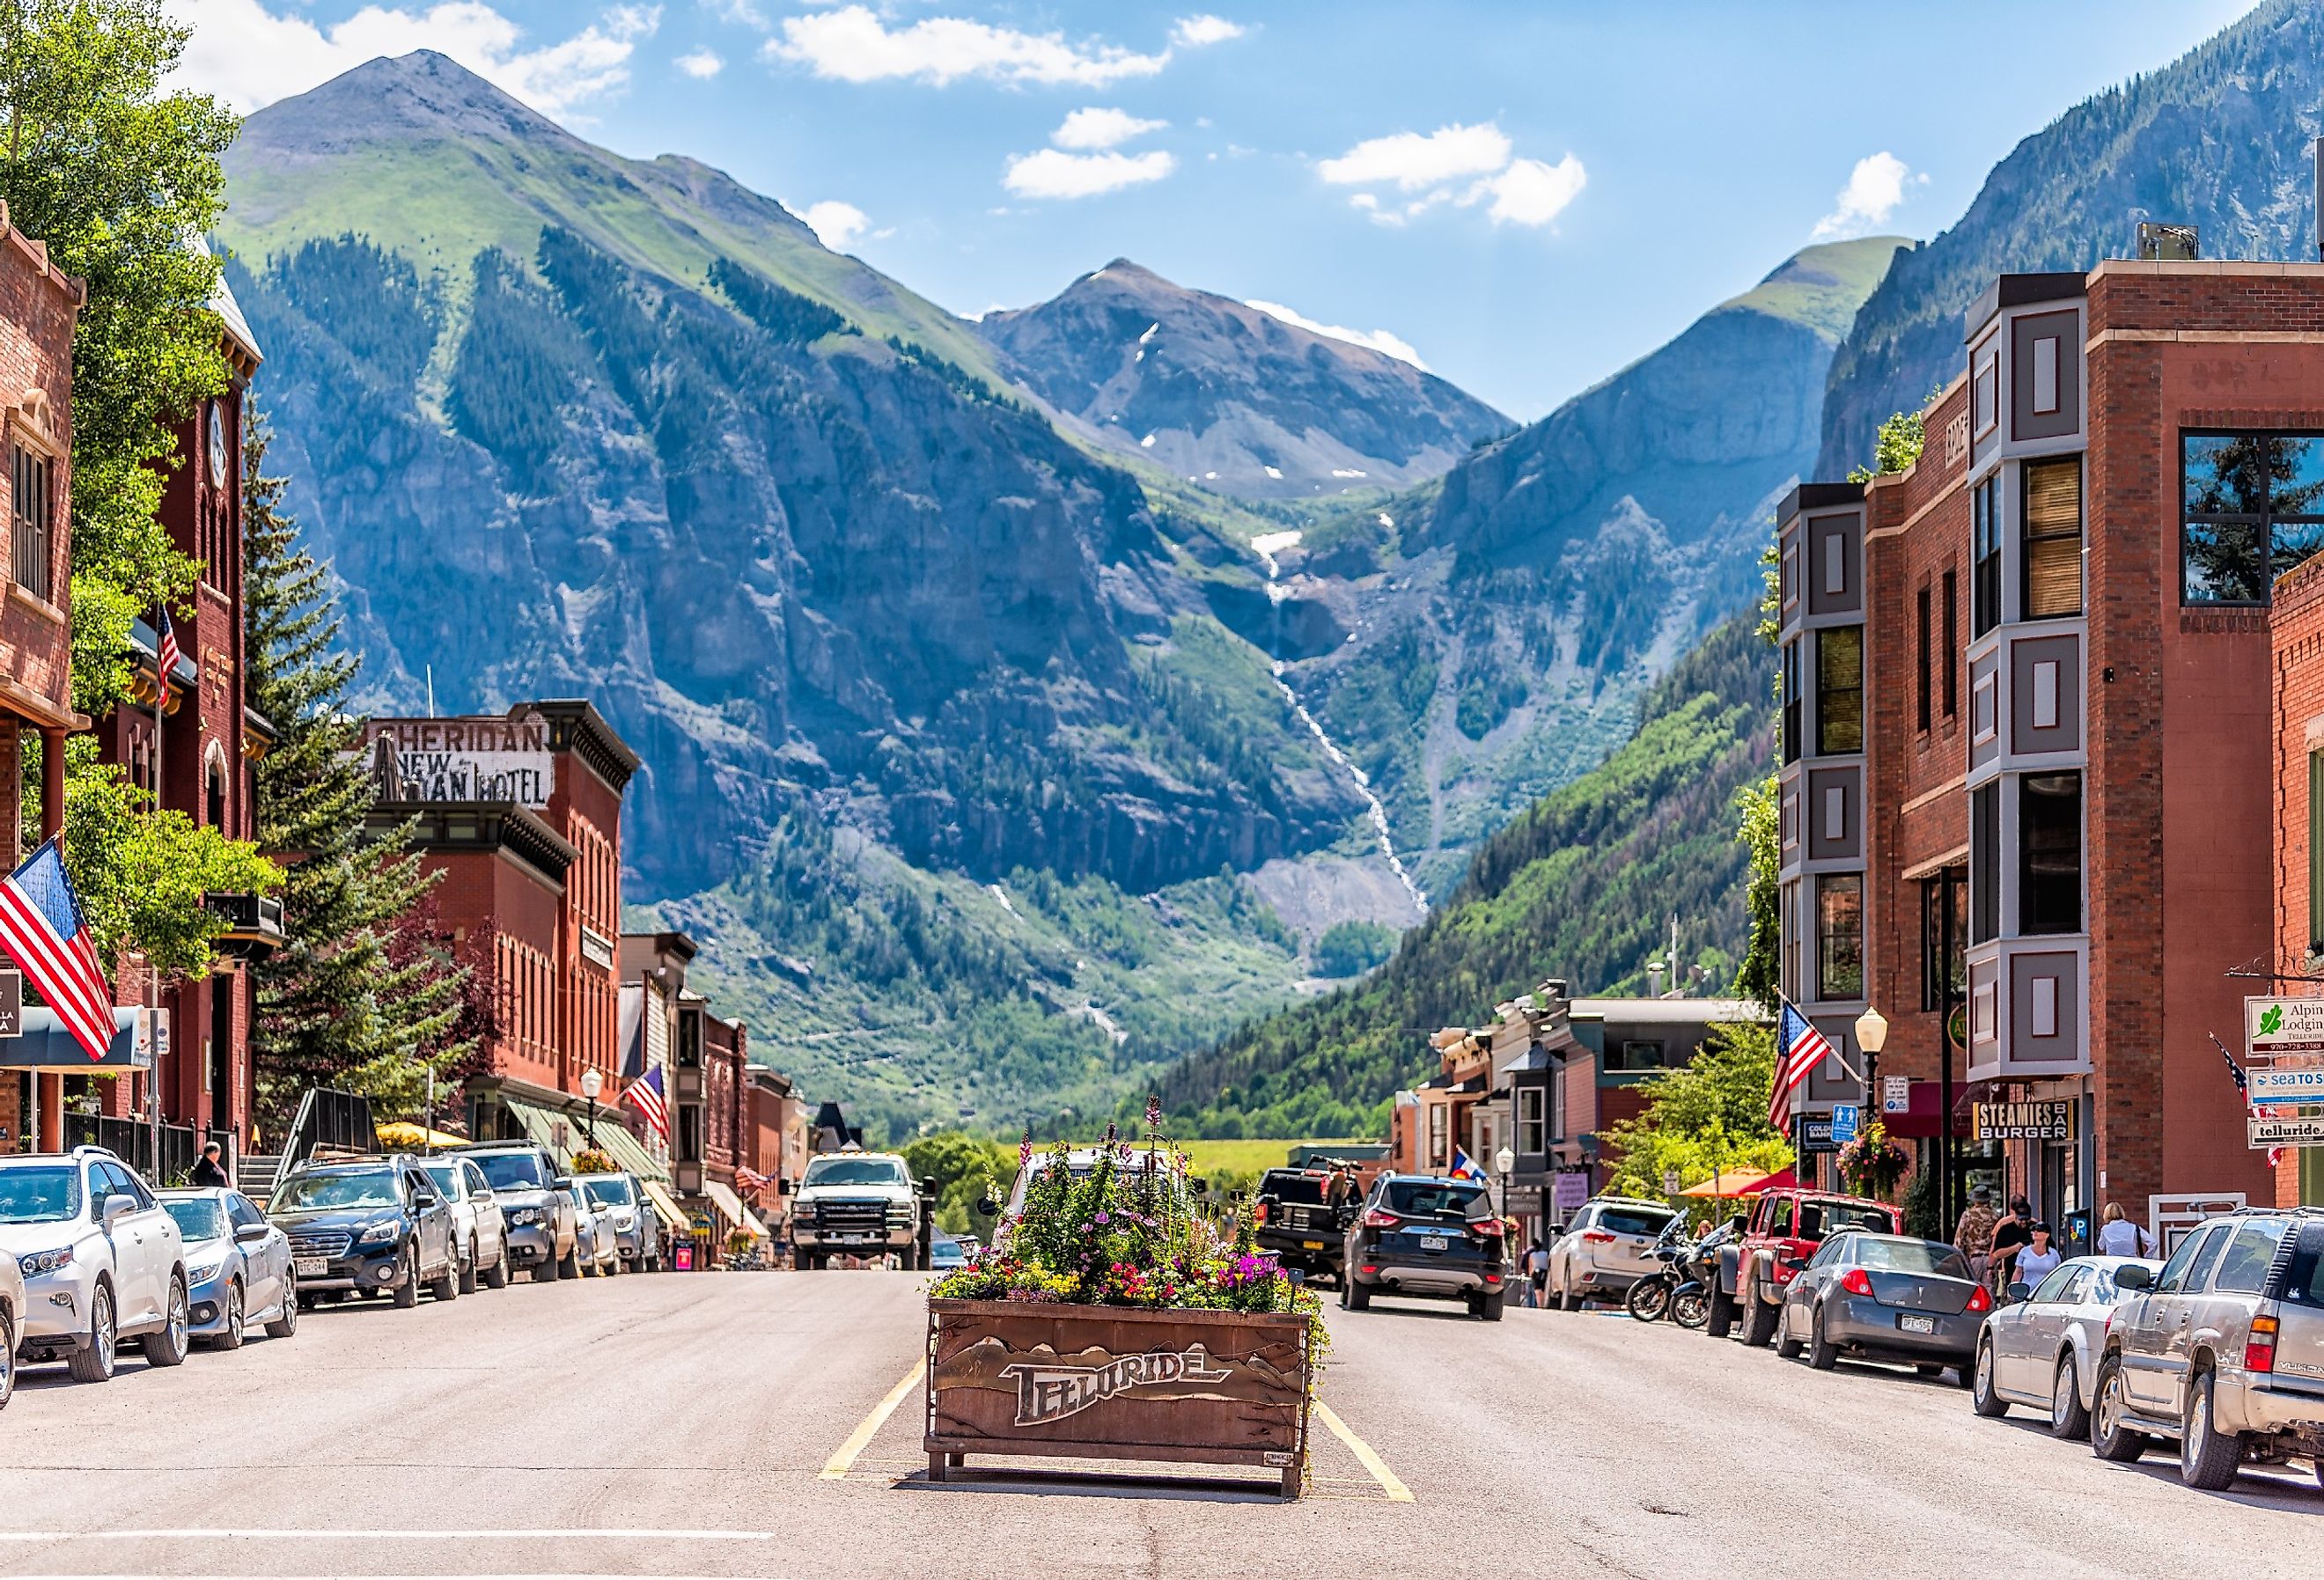
<svg viewBox="0 0 2324 1580"><path fill-rule="evenodd" d="M0 1157L0 1255L23 1278L16 1352L114 1376L123 1338L149 1366L186 1359L186 1248L137 1171L105 1148Z"/></svg>

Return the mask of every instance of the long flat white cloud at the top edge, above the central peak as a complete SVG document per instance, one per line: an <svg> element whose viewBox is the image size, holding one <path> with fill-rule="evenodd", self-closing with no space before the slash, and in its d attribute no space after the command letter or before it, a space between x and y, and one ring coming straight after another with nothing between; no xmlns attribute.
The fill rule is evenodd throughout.
<svg viewBox="0 0 2324 1580"><path fill-rule="evenodd" d="M865 5L786 16L783 37L767 40L765 53L837 81L906 77L939 88L962 77L1102 88L1153 77L1169 63L1169 51L1146 56L1120 44L1069 44L1062 33L1018 33L964 16L930 16L890 30Z"/></svg>

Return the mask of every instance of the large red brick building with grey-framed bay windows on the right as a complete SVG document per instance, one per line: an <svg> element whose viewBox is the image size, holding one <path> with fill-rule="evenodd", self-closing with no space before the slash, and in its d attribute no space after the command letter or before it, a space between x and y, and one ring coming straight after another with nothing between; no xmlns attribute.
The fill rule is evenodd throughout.
<svg viewBox="0 0 2324 1580"><path fill-rule="evenodd" d="M2319 328L2315 265L2001 276L1920 462L1783 511L1783 988L1852 1064L1878 1004L1931 1139L1950 988L1966 1166L2050 1218L2273 1192L2210 1039L2278 950L2268 588L2324 514L2240 458L2324 430Z"/></svg>

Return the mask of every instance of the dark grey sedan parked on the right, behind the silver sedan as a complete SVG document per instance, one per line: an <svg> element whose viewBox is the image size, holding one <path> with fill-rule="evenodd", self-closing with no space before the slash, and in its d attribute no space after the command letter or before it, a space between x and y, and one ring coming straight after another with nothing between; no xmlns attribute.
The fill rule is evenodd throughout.
<svg viewBox="0 0 2324 1580"><path fill-rule="evenodd" d="M1834 1234L1813 1257L1792 1257L1776 1313L1776 1355L1801 1350L1817 1371L1841 1357L1908 1362L1922 1376L1952 1366L1975 1376L1978 1331L1994 1297L1966 1257L1943 1241L1906 1234Z"/></svg>

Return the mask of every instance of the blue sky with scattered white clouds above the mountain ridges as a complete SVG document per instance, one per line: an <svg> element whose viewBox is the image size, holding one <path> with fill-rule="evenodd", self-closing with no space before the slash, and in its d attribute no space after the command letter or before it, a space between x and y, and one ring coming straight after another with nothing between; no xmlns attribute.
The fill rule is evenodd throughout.
<svg viewBox="0 0 2324 1580"><path fill-rule="evenodd" d="M1520 418L1817 235L1936 235L2017 139L2250 9L165 2L195 26L184 79L242 109L432 46L955 311L1127 256L1385 332Z"/></svg>

